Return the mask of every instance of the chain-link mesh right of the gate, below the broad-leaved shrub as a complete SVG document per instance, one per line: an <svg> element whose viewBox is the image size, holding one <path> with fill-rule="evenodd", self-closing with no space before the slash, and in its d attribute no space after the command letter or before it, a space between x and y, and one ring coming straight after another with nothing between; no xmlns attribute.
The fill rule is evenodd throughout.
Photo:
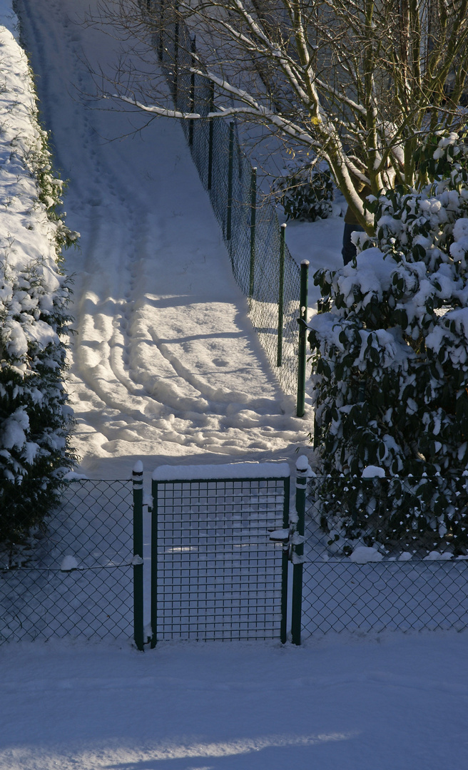
<svg viewBox="0 0 468 770"><path fill-rule="evenodd" d="M369 552L353 561L351 554L362 543L320 527L325 512L317 492L323 483L313 480L306 509L302 638L329 631L467 628L468 560L453 554L450 539L445 551L438 544L437 553L412 548L409 541L375 547L370 557L378 561L366 561Z"/></svg>

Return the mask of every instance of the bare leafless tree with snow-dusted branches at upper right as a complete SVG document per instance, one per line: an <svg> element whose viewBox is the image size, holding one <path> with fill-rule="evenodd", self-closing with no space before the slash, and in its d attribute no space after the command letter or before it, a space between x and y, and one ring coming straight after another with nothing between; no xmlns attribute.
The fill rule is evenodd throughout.
<svg viewBox="0 0 468 770"><path fill-rule="evenodd" d="M86 23L133 53L106 73L102 98L155 116L236 116L313 151L370 233L362 187L414 185L424 136L466 122L467 12L468 0L100 0ZM182 25L197 51L180 36L173 77L215 86L204 115L170 104L158 67Z"/></svg>

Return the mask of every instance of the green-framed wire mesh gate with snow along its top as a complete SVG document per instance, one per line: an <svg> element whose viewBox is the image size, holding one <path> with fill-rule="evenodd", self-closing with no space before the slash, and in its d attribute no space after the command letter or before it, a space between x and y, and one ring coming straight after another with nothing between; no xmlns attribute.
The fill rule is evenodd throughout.
<svg viewBox="0 0 468 770"><path fill-rule="evenodd" d="M285 463L160 467L153 474L152 642L286 639Z"/></svg>

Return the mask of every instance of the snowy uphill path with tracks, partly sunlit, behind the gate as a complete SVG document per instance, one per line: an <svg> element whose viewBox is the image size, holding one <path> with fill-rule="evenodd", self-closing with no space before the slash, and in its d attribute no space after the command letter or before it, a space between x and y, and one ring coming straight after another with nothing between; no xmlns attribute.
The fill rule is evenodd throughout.
<svg viewBox="0 0 468 770"><path fill-rule="evenodd" d="M308 420L269 373L180 126L103 112L83 53L118 44L76 23L96 0L19 0L56 162L70 179L75 274L69 392L82 469L128 476L135 457L225 462L291 457ZM140 121L140 123L139 123Z"/></svg>

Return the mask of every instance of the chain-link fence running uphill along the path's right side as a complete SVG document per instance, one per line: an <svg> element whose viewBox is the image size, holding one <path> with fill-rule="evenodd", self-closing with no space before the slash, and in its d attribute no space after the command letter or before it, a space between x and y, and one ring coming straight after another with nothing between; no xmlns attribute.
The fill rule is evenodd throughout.
<svg viewBox="0 0 468 770"><path fill-rule="evenodd" d="M258 194L256 174L237 139L235 121L205 119L216 109L217 95L206 78L190 73L197 54L187 25L167 0L150 0L146 10L174 104L181 112L202 116L184 119L182 126L221 225L234 277L248 297L251 321L281 387L296 393L299 266L281 243L274 206ZM204 69L198 55L197 67Z"/></svg>

